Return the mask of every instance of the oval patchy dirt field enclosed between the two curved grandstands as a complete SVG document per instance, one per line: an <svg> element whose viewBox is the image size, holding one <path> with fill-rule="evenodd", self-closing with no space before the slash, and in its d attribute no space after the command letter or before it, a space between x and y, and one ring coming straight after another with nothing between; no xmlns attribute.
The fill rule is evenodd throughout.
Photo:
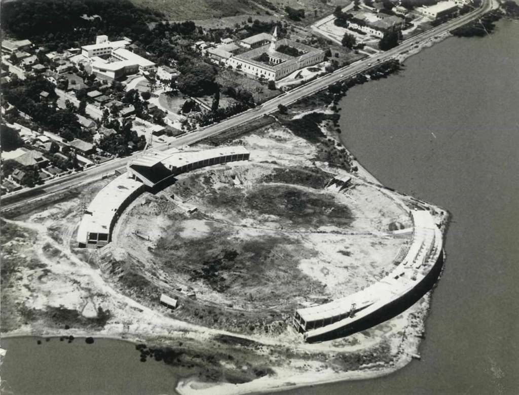
<svg viewBox="0 0 519 395"><path fill-rule="evenodd" d="M153 300L158 292L189 300L191 307L182 302L175 312L184 319L200 322L197 305L221 309L223 322L236 312L284 320L297 306L375 281L411 236L389 231L391 222L411 223L385 194L363 182L332 192L325 187L333 177L312 167L250 162L179 176L125 211L105 261L131 262L133 275L145 278L141 292ZM123 272L126 286L139 283L128 284Z"/></svg>

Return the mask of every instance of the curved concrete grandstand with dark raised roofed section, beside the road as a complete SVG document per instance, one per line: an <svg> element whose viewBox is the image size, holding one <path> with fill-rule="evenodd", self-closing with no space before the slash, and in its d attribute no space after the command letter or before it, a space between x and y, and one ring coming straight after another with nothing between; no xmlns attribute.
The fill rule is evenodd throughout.
<svg viewBox="0 0 519 395"><path fill-rule="evenodd" d="M77 231L79 247L102 247L112 240L112 230L122 211L145 189L157 189L164 181L196 168L248 160L241 146L204 151L145 151L131 159L127 173L106 185L85 210Z"/></svg>

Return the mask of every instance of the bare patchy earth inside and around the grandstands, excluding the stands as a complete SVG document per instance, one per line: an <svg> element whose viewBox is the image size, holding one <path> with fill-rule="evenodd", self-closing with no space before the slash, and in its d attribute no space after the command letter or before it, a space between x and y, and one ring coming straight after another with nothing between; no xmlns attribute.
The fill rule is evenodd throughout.
<svg viewBox="0 0 519 395"><path fill-rule="evenodd" d="M403 205L422 203L355 174L344 192L326 190L345 171L278 123L231 143L247 147L251 161L200 169L141 195L99 250L75 248L75 232L109 180L4 217L2 335L167 345L186 377L181 393L373 377L411 360L428 296L370 330L320 344L303 343L289 322L296 306L376 281L411 236L390 224L408 229ZM179 308L160 306L161 292Z"/></svg>

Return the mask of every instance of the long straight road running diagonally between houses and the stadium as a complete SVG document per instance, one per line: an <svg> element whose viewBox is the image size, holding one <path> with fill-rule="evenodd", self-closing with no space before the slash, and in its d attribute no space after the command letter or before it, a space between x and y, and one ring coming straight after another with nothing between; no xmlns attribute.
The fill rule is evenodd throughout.
<svg viewBox="0 0 519 395"><path fill-rule="evenodd" d="M365 70L370 68L370 64L372 62L383 62L389 60L395 55L399 53L408 51L413 48L415 45L419 43L423 43L434 36L445 33L449 30L456 29L456 27L462 26L473 19L479 18L484 13L488 12L491 9L491 0L484 0L483 4L480 8L477 8L466 15L453 19L447 23L444 23L440 26L436 26L433 29L421 33L412 39L402 41L402 43L395 48L392 48L386 52L375 55L373 58L368 58L366 60L358 61L349 66L345 66L336 70L331 74L327 74L323 77L320 77L316 80L308 82L301 87L293 89L289 92L283 93L280 96L272 98L271 100L263 103L261 106L257 106L248 111L242 112L234 117L228 118L225 121L220 123L206 126L206 128L202 128L200 130L188 133L184 136L176 138L171 146L159 146L156 149L166 150L171 147L182 147L187 145L192 145L200 140L206 139L211 136L215 136L220 134L227 129L233 128L235 126L242 125L244 123L250 122L254 119L263 117L265 115L272 114L273 112L278 110L278 105L290 105L303 97L310 96L314 93L317 93L323 89L326 89L331 84L347 79L351 76L354 76L358 73L364 72ZM45 193L48 195L50 193L56 193L60 191L64 191L69 188L77 187L82 183L88 182L89 180L94 180L96 178L100 178L102 174L112 173L115 170L123 170L125 168L126 162L128 158L118 158L106 162L104 164L98 165L96 167L90 168L82 173L73 174L70 176L62 177L59 179L52 180L47 182L45 185L36 186L31 191L34 193ZM2 198L2 211L6 209L10 209L13 207L18 207L25 204L28 201L33 201L39 199L39 195L37 197L31 197L29 199L24 199L24 195L26 194L26 190L18 191L10 194L9 196L5 196Z"/></svg>

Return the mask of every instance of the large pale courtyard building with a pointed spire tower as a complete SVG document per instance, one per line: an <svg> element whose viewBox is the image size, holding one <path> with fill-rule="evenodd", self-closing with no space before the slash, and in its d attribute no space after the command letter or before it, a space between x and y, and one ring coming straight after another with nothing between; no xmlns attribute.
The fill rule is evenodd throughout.
<svg viewBox="0 0 519 395"><path fill-rule="evenodd" d="M296 70L321 63L324 51L286 38L278 39L277 27L274 34L257 34L239 41L249 51L234 55L225 51L221 60L253 77L278 80Z"/></svg>

